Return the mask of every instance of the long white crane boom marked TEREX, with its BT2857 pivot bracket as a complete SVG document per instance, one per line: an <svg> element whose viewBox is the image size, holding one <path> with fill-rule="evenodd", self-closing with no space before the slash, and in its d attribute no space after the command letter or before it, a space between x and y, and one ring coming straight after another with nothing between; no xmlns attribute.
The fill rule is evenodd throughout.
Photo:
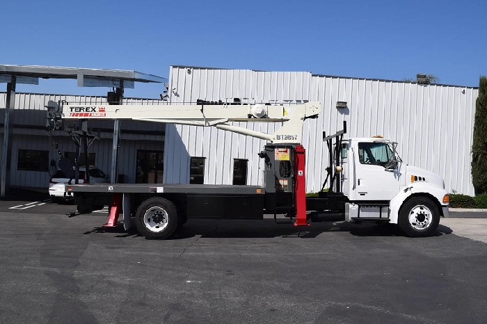
<svg viewBox="0 0 487 324"><path fill-rule="evenodd" d="M301 143L303 122L317 118L319 102L289 106L249 104L71 105L64 104L65 120L141 120L195 126L214 126L271 143ZM237 127L227 122L283 122L273 134Z"/></svg>

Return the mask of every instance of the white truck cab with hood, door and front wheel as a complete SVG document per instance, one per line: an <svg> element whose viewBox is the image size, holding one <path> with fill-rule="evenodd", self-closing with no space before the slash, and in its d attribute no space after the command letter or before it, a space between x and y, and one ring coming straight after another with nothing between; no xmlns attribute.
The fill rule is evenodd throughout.
<svg viewBox="0 0 487 324"><path fill-rule="evenodd" d="M349 200L347 221L385 220L410 236L427 236L438 227L440 216L448 217L443 179L404 163L397 143L377 136L350 138L341 145L341 168L335 168Z"/></svg>

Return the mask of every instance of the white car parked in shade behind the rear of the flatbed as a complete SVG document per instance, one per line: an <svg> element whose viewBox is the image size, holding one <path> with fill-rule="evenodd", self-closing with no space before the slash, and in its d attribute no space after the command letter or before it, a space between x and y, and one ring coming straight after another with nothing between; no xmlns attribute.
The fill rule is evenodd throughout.
<svg viewBox="0 0 487 324"><path fill-rule="evenodd" d="M92 167L88 171L90 173L90 184L109 183L109 175L105 175L99 168ZM63 171L58 170L49 179L49 195L54 202L65 202L72 199L70 193L65 191L65 185L70 181L70 178L66 177ZM86 168L79 167L79 184L86 182ZM74 178L71 179L71 184L74 184Z"/></svg>

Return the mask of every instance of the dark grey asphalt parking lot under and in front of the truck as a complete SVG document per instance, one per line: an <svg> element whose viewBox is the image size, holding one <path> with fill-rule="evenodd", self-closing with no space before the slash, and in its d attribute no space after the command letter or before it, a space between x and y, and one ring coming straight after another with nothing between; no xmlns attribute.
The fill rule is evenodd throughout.
<svg viewBox="0 0 487 324"><path fill-rule="evenodd" d="M484 323L487 317L482 213L452 213L428 238L384 225L296 229L266 219L189 220L173 239L150 241L121 227L104 229L106 212L67 218L73 209L42 195L0 201L1 323ZM477 229L473 239L468 227Z"/></svg>

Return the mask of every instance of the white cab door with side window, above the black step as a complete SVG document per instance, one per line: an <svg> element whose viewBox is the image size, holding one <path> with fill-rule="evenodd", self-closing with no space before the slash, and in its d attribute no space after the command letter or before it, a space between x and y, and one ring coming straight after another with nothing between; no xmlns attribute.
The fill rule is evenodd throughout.
<svg viewBox="0 0 487 324"><path fill-rule="evenodd" d="M391 200L399 192L400 164L385 170L392 149L385 142L358 142L354 145L354 183L351 200Z"/></svg>

